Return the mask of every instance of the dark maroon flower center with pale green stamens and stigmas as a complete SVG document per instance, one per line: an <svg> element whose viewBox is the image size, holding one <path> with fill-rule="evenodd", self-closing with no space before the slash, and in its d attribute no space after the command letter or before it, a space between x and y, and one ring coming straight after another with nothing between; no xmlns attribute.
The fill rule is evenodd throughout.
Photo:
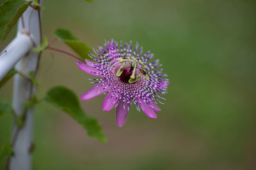
<svg viewBox="0 0 256 170"><path fill-rule="evenodd" d="M120 79L125 83L131 84L140 80L141 76L136 74L136 70L139 70L141 75L149 80L149 77L145 71L146 66L139 59L134 59L133 57L120 57L117 60L124 64L118 69L116 76L120 77ZM138 63L141 65L141 67Z"/></svg>

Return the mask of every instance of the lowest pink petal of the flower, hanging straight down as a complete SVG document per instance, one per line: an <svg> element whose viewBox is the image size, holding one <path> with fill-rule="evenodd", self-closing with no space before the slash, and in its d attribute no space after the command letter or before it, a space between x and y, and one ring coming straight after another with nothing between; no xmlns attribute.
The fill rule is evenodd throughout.
<svg viewBox="0 0 256 170"><path fill-rule="evenodd" d="M122 127L125 123L125 120L128 116L128 107L127 107L127 101L123 102L122 99L120 99L118 105L116 106L116 123L119 127Z"/></svg>

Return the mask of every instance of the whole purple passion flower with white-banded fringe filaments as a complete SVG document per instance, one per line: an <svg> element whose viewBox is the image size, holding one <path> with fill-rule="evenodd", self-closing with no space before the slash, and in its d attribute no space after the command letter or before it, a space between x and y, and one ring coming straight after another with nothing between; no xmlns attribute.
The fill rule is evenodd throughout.
<svg viewBox="0 0 256 170"><path fill-rule="evenodd" d="M163 69L159 60L150 62L153 54L149 51L142 55L142 47L136 43L132 51L131 43L118 43L113 39L105 42L105 48L98 46L93 48L93 53L88 55L95 61L86 60L77 62L81 70L93 76L101 78L88 79L91 83L96 83L92 89L85 92L81 99L87 101L100 94L107 94L102 102L102 109L110 111L114 106L116 108L116 123L122 127L127 118L129 108L132 102L138 111L141 110L150 118L157 118L155 111L161 111L157 103L159 99L164 99L159 94L165 94L169 84L167 76L162 74ZM152 70L153 69L153 70ZM161 103L163 104L163 103Z"/></svg>

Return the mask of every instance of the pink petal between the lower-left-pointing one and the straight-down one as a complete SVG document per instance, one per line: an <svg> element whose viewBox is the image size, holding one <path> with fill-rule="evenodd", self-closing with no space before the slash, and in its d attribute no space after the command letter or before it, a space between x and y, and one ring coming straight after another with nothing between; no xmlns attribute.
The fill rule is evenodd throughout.
<svg viewBox="0 0 256 170"><path fill-rule="evenodd" d="M114 92L109 92L107 96L104 98L104 101L102 102L102 110L104 111L111 110L115 106L115 104L118 102L121 95L122 95L121 92L119 92L118 94L118 90L115 90Z"/></svg>

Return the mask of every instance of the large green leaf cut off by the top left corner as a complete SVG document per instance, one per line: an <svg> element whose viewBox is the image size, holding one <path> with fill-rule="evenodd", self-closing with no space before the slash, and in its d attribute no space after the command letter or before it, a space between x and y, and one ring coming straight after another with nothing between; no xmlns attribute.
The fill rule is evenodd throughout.
<svg viewBox="0 0 256 170"><path fill-rule="evenodd" d="M32 1L7 0L0 5L0 45Z"/></svg>

